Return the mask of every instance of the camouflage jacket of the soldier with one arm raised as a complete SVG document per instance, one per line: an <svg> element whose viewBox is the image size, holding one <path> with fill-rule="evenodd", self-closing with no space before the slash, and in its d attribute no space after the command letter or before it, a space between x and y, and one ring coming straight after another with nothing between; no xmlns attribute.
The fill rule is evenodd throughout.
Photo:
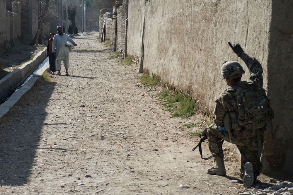
<svg viewBox="0 0 293 195"><path fill-rule="evenodd" d="M241 54L240 57L245 62L246 66L249 69L250 78L248 81L249 82L253 81L262 87L263 86L263 69L261 64L255 58L249 57L244 52ZM234 85L239 85L239 82L235 83ZM230 88L230 86L228 88ZM234 98L234 100L232 100L231 98ZM236 102L236 95L228 91L225 91L224 93L222 93L220 97L216 100L216 106L214 108L214 114L216 118L214 119L214 123L217 126L218 125L224 126L224 118L227 112L233 113L234 111L236 111L235 105L233 105L232 102ZM234 113L237 114L236 112Z"/></svg>

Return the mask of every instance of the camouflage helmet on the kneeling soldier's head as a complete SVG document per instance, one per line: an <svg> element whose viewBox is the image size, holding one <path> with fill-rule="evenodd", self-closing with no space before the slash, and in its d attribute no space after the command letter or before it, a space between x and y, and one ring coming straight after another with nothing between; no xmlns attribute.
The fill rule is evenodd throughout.
<svg viewBox="0 0 293 195"><path fill-rule="evenodd" d="M241 74L244 74L242 66L236 61L225 61L221 69L221 78L237 78Z"/></svg>

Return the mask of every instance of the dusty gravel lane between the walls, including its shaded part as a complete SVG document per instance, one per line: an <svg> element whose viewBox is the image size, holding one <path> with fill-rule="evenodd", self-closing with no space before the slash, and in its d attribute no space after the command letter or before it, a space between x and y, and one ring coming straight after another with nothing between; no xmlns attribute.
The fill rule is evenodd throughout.
<svg viewBox="0 0 293 195"><path fill-rule="evenodd" d="M213 160L192 151L199 138L188 134L202 126L183 127L207 118L170 118L156 99L161 89L136 87L140 74L118 64L97 35L74 37L70 76L63 67L62 76L38 82L1 119L0 194L257 191L243 187L239 156L229 149L227 176L207 175ZM270 185L268 177L256 185Z"/></svg>

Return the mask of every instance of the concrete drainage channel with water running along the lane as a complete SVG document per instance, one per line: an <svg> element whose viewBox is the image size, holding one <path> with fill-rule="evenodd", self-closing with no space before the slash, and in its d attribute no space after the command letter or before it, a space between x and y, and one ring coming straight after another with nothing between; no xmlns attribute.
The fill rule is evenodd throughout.
<svg viewBox="0 0 293 195"><path fill-rule="evenodd" d="M33 87L49 68L46 49L0 80L0 117L6 114L21 96ZM11 94L11 91L14 93Z"/></svg>

